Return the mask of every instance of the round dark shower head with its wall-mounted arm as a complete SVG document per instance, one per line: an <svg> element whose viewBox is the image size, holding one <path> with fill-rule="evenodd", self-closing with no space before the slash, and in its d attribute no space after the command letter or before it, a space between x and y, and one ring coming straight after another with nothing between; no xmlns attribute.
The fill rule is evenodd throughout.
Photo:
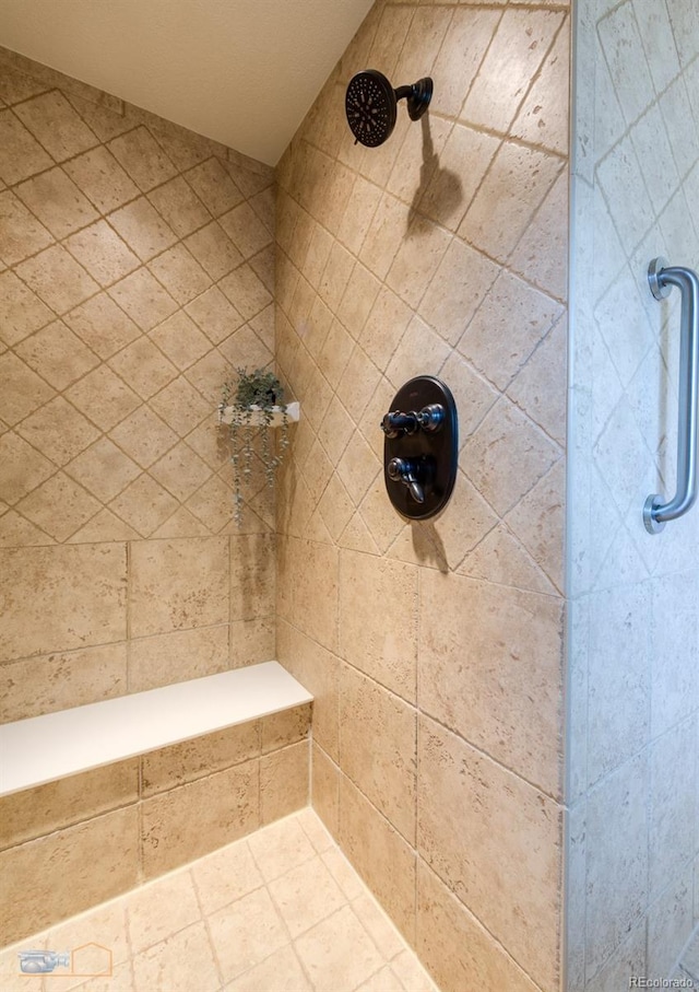
<svg viewBox="0 0 699 992"><path fill-rule="evenodd" d="M431 95L433 81L429 77L412 86L394 90L378 69L357 72L350 80L345 94L345 114L355 137L354 143L359 141L367 148L383 144L395 127L398 101L405 97L411 120L418 120L427 109Z"/></svg>

